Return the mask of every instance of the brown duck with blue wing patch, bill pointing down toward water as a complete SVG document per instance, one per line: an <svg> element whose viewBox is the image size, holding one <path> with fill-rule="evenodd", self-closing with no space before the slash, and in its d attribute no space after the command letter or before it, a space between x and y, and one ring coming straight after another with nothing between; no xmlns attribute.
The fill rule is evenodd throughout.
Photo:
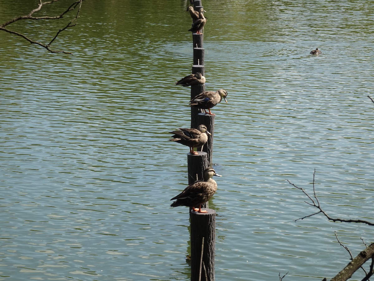
<svg viewBox="0 0 374 281"><path fill-rule="evenodd" d="M218 105L218 103L221 102L222 98L227 103L227 91L220 89L218 91L205 91L204 93L201 93L194 97L192 100L190 100L190 106L194 106L197 108L201 108L205 110L205 114L209 115L215 115L211 112L211 108L213 106ZM209 110L209 113L206 112L206 109Z"/></svg>

